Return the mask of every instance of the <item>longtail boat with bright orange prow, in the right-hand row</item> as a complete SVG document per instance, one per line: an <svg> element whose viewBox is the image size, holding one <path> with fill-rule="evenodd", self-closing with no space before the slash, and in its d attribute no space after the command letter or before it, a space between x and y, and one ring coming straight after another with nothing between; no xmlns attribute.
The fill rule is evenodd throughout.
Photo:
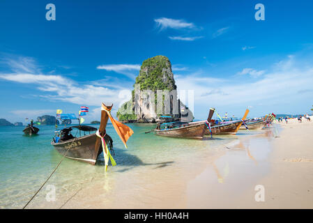
<svg viewBox="0 0 313 223"><path fill-rule="evenodd" d="M243 124L243 121L245 121L245 118L247 118L247 114L249 113L249 110L245 110L245 115L241 120L237 121L227 121L222 122L220 124L215 125L214 121L211 122L211 130L208 128L206 130L206 134L236 134L238 132L239 128L241 128L241 125Z"/></svg>

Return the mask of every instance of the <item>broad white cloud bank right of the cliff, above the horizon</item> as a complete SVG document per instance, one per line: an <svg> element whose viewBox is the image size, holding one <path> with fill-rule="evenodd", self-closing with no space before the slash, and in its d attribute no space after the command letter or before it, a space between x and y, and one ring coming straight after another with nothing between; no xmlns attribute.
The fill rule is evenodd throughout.
<svg viewBox="0 0 313 223"><path fill-rule="evenodd" d="M208 102L208 106L255 106L260 103L287 102L289 105L309 97L309 91L313 90L312 67L302 68L290 66L292 56L273 66L259 79L250 79L242 82L236 78L211 78L199 72L195 75L176 75L178 89L194 90L194 103L198 106ZM294 63L296 64L296 63ZM289 67L286 70L285 65ZM251 72L251 70L248 70ZM245 70L243 73L249 73ZM237 76L238 77L238 76ZM299 91L306 89L305 95ZM262 111L264 111L264 108Z"/></svg>

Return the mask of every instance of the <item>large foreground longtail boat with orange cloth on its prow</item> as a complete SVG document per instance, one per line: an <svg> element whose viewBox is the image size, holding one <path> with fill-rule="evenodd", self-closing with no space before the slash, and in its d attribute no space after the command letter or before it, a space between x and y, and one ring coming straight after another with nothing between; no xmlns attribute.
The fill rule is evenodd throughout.
<svg viewBox="0 0 313 223"><path fill-rule="evenodd" d="M109 160L111 160L112 165L114 166L116 162L109 152L111 150L111 152L114 153L112 150L113 140L109 134L106 134L105 130L107 127L108 118L110 118L112 121L112 124L125 144L125 147L126 141L133 132L130 128L128 128L127 125L123 125L122 123L119 123L118 121L114 120L114 118L112 118L110 114L112 106L106 106L102 103L99 129L80 124L63 128L63 130L55 131L55 135L51 142L52 146L54 146L56 151L65 157L68 157L72 160L87 162L93 165L96 164L98 155L100 155L100 153L103 151L103 155L105 156L105 169L107 169ZM75 118L73 117L72 119ZM74 137L70 133L74 128L79 130L79 137ZM82 132L84 133L83 136ZM86 134L87 132L89 132L89 134Z"/></svg>

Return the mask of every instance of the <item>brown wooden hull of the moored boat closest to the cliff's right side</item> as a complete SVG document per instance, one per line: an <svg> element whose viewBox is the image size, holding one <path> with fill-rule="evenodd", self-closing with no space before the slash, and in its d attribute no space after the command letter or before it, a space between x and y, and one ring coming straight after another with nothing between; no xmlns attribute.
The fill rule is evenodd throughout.
<svg viewBox="0 0 313 223"><path fill-rule="evenodd" d="M206 123L187 125L181 128L155 130L155 134L162 137L175 137L184 139L203 139L206 132Z"/></svg>

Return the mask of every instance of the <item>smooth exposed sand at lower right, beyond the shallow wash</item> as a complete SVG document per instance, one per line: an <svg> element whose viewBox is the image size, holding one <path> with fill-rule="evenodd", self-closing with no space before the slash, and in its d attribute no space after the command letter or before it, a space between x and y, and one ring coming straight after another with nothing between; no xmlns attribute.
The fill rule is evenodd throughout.
<svg viewBox="0 0 313 223"><path fill-rule="evenodd" d="M313 122L293 119L280 127L229 146L215 162L223 183L208 166L190 182L187 208L313 208ZM255 199L257 185L264 201Z"/></svg>

